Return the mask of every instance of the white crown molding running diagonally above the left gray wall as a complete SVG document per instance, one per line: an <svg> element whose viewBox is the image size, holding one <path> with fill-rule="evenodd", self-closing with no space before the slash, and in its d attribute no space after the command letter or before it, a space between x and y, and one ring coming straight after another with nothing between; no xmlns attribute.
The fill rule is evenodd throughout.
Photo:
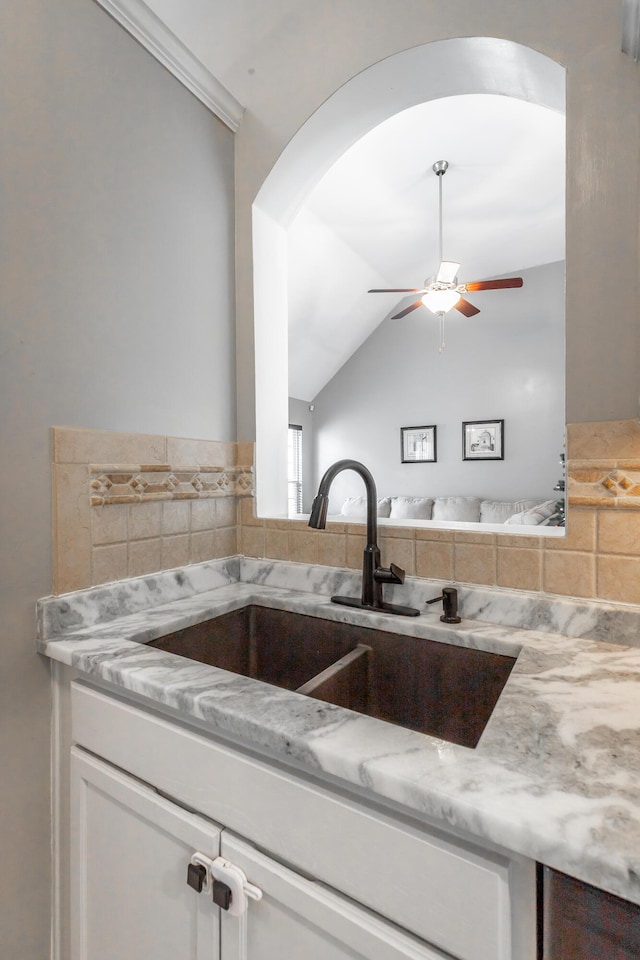
<svg viewBox="0 0 640 960"><path fill-rule="evenodd" d="M143 0L96 0L149 53L235 133L244 107Z"/></svg>

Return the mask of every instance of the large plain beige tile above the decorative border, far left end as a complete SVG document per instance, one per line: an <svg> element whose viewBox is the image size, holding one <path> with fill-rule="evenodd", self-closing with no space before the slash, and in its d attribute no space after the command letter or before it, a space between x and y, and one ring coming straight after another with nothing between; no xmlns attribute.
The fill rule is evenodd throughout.
<svg viewBox="0 0 640 960"><path fill-rule="evenodd" d="M58 463L166 463L166 437L110 430L54 427L53 458Z"/></svg>

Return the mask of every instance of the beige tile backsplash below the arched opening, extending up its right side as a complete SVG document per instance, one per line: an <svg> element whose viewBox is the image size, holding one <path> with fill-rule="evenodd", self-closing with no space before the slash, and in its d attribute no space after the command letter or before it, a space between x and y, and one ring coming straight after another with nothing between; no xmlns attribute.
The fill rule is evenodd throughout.
<svg viewBox="0 0 640 960"><path fill-rule="evenodd" d="M383 563L428 579L640 603L640 420L570 424L567 453L564 538L380 525ZM314 531L304 521L261 520L252 499L241 502L240 520L245 556L362 564L362 525Z"/></svg>

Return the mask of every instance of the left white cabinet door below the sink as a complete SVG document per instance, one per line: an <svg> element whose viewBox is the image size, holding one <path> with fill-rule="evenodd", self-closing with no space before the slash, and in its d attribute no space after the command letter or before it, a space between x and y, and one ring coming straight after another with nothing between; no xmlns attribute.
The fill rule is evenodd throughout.
<svg viewBox="0 0 640 960"><path fill-rule="evenodd" d="M218 855L219 828L71 753L72 960L217 960L220 911L187 868Z"/></svg>

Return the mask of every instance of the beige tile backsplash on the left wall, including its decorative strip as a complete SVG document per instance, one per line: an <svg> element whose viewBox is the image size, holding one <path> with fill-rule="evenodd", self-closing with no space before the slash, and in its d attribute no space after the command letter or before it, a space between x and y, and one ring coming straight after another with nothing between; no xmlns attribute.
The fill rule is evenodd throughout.
<svg viewBox="0 0 640 960"><path fill-rule="evenodd" d="M54 593L238 552L251 444L55 427Z"/></svg>

